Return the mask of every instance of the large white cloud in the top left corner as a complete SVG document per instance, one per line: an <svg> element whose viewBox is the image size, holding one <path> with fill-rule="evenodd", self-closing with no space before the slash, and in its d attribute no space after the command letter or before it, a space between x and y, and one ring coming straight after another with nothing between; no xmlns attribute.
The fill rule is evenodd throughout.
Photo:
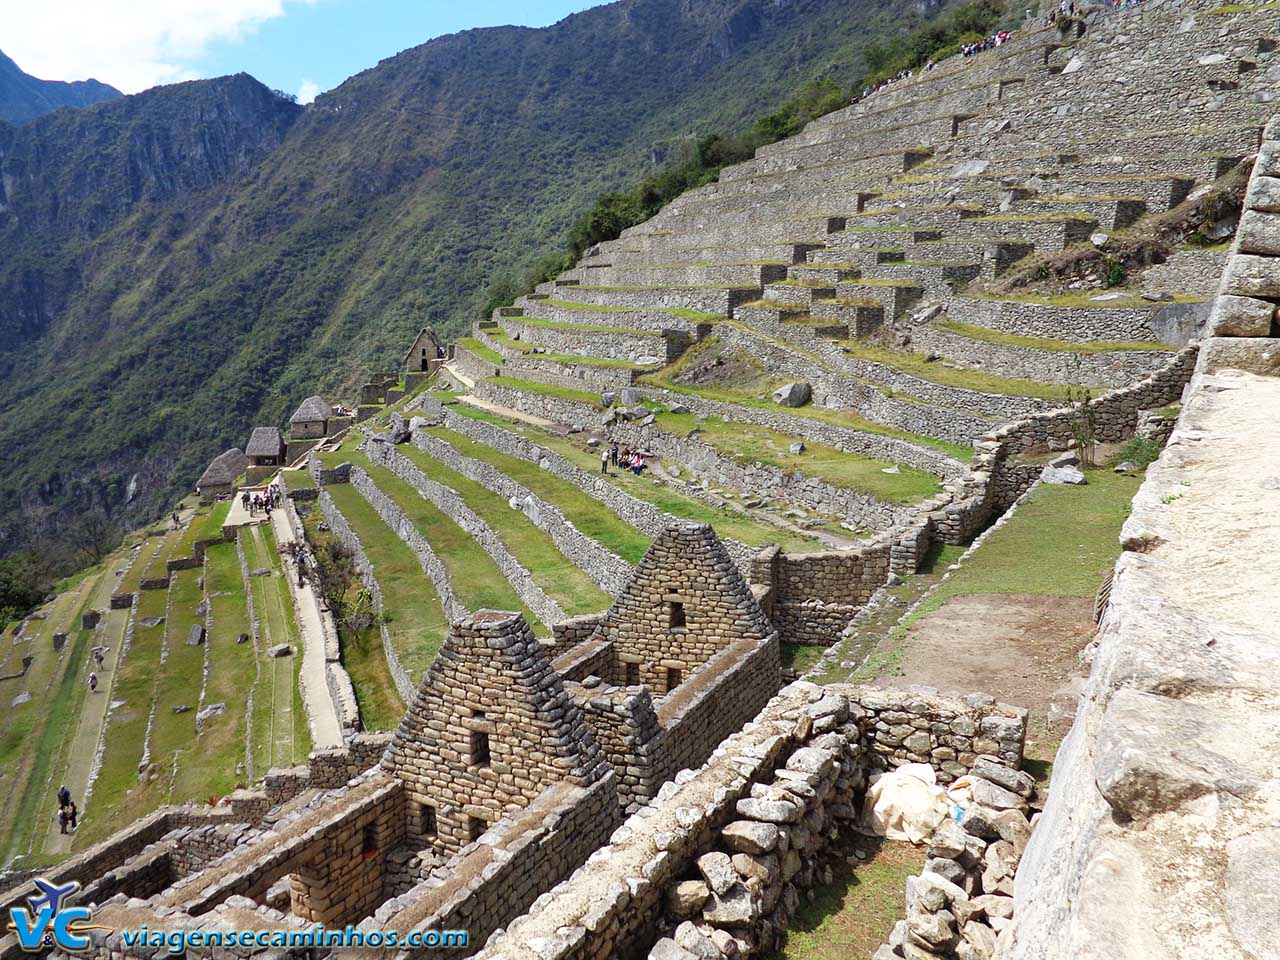
<svg viewBox="0 0 1280 960"><path fill-rule="evenodd" d="M5 14L4 51L41 79L88 79L125 93L193 79L210 44L234 42L315 0L47 0Z"/></svg>

